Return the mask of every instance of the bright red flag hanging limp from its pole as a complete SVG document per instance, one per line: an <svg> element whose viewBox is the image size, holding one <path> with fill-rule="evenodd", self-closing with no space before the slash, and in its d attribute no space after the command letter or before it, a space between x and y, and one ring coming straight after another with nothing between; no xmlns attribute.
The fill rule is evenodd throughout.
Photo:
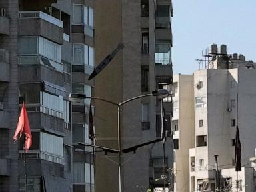
<svg viewBox="0 0 256 192"><path fill-rule="evenodd" d="M15 133L13 135L13 139L16 142L19 137L24 133L25 137L25 151L27 152L29 147L32 145L32 135L29 126L29 118L27 117L27 110L25 107L25 103L23 103L21 108L21 114L19 115L19 122L17 124Z"/></svg>

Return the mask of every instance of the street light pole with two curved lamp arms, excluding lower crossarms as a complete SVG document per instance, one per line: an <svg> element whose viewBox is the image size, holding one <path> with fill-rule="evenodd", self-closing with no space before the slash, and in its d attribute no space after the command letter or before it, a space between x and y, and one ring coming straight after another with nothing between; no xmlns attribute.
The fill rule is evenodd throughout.
<svg viewBox="0 0 256 192"><path fill-rule="evenodd" d="M79 102L81 99L95 99L100 101L105 101L107 103L111 103L115 106L117 106L117 143L118 143L118 177L119 177L119 192L122 192L122 186L121 186L121 121L120 121L120 107L124 105L125 103L128 103L130 101L133 101L135 99L140 99L142 97L149 97L149 96L159 96L161 99L163 97L167 97L169 95L169 91L165 89L159 89L152 91L152 93L145 94L145 95L139 95L137 97L132 97L131 99L127 99L121 103L115 103L113 101L109 101L107 99L102 99L99 97L87 97L85 94L81 93L70 93L69 99L73 102ZM111 149L112 150L112 149Z"/></svg>

